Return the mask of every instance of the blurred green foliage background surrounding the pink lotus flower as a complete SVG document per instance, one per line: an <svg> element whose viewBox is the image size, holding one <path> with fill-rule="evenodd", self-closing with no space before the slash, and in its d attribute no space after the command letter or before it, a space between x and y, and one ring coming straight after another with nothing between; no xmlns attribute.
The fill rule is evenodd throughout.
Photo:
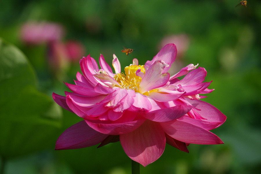
<svg viewBox="0 0 261 174"><path fill-rule="evenodd" d="M227 116L212 131L225 144L191 144L189 154L166 145L156 162L141 166L141 173L260 173L261 3L249 0L247 8L235 8L239 2L1 0L0 156L5 173L131 173L131 160L119 142L54 151L59 135L81 119L57 106L51 94L68 91L63 81L73 83L82 56L98 60L102 54L111 64L115 54L123 70L133 58L140 64L151 60L171 42L178 50L171 75L198 63L208 72L206 81L213 80L209 88L215 90L204 101ZM28 22L59 24L64 35L57 42L77 42L84 55L68 59L65 47L26 43L21 28ZM127 57L123 47L135 51Z"/></svg>

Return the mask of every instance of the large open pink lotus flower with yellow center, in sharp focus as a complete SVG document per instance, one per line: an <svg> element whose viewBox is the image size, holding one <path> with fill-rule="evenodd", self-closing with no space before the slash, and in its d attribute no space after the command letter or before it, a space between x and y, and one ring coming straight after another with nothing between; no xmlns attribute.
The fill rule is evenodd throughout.
<svg viewBox="0 0 261 174"><path fill-rule="evenodd" d="M203 82L206 70L190 64L170 77L167 71L176 54L176 46L167 44L145 65L133 59L125 73L115 55L115 73L102 55L101 69L90 55L83 57L83 75L77 73L75 85L65 83L73 92L65 92L66 97L53 93L53 99L84 121L64 131L55 149L120 141L132 160L147 166L162 155L166 143L184 152L190 143L222 144L209 130L223 124L226 116L200 100L204 96L199 94L213 91L207 88L211 82Z"/></svg>

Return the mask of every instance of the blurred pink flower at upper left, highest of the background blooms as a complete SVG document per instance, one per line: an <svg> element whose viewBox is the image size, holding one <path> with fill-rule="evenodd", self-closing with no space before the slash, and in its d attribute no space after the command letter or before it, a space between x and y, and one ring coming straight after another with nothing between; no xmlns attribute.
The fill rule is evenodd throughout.
<svg viewBox="0 0 261 174"><path fill-rule="evenodd" d="M64 33L64 28L58 23L28 22L22 26L20 35L27 44L42 44L58 41Z"/></svg>

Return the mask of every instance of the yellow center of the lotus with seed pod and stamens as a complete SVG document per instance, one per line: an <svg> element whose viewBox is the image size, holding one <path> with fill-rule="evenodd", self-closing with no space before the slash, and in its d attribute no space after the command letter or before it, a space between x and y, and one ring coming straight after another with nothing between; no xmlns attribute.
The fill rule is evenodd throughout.
<svg viewBox="0 0 261 174"><path fill-rule="evenodd" d="M136 71L141 69L142 73L145 73L144 65L130 65L124 68L124 73L118 73L113 78L120 84L120 86L115 85L119 88L132 89L138 92L139 84L142 78L136 75Z"/></svg>

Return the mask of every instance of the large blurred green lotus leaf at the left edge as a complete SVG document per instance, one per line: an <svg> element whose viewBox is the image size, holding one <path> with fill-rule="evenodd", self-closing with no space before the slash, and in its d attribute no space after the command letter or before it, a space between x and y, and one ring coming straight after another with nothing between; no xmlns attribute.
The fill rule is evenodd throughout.
<svg viewBox="0 0 261 174"><path fill-rule="evenodd" d="M55 145L61 108L36 89L25 55L0 39L0 155L14 157Z"/></svg>

